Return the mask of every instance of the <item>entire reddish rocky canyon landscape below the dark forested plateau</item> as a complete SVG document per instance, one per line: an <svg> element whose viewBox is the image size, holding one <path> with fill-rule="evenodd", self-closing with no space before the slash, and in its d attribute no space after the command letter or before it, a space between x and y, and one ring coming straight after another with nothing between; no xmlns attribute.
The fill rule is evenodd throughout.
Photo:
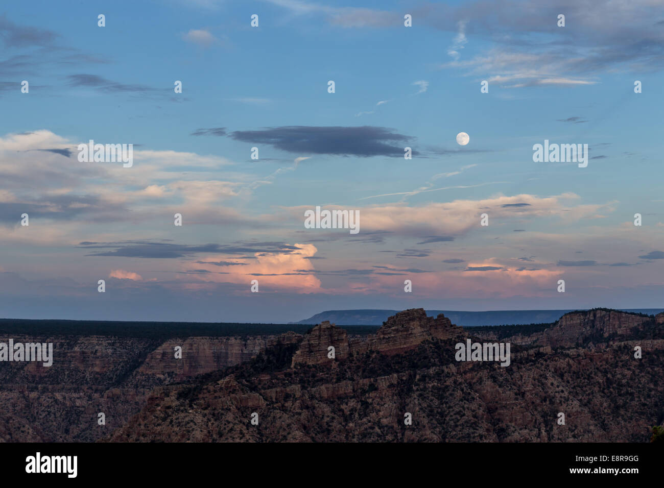
<svg viewBox="0 0 664 488"><path fill-rule="evenodd" d="M0 365L0 440L647 442L664 421L663 324L593 309L462 328L410 309L371 334L326 321L304 334L14 334L53 343L54 358ZM511 343L511 364L457 362L466 339Z"/></svg>

